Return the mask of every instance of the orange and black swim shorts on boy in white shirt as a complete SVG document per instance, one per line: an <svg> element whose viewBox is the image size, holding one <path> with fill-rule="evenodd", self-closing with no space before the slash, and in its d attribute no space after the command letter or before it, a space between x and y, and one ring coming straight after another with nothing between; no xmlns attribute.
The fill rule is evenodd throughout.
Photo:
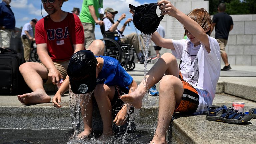
<svg viewBox="0 0 256 144"><path fill-rule="evenodd" d="M181 102L174 112L194 113L199 105L198 92L192 85L183 80L181 72L179 79L182 81L184 92Z"/></svg>

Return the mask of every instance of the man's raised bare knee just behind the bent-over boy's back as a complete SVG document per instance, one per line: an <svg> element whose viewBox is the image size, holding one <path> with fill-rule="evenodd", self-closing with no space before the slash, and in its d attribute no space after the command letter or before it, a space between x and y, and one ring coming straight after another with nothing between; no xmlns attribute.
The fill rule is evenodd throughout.
<svg viewBox="0 0 256 144"><path fill-rule="evenodd" d="M92 51L92 53L96 56L103 55L105 49L105 44L102 40L93 41L87 50Z"/></svg>

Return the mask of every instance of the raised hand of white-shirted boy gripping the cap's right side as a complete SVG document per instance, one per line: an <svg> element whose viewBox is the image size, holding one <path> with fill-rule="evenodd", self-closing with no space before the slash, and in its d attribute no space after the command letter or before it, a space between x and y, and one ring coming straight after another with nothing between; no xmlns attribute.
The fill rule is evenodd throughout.
<svg viewBox="0 0 256 144"><path fill-rule="evenodd" d="M178 12L178 9L176 9L171 2L167 0L161 0L158 2L159 9L161 11L160 15L166 15L174 17L176 13Z"/></svg>

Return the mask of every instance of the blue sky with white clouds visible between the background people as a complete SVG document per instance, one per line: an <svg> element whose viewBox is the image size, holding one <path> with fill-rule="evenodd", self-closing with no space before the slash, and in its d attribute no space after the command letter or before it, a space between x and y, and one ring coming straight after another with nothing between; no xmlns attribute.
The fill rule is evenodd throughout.
<svg viewBox="0 0 256 144"><path fill-rule="evenodd" d="M123 13L126 13L127 19L132 18L132 15L129 13L128 4L139 6L142 4L155 2L157 2L157 0L103 0L103 8L105 9L106 7L112 7L114 10L117 10L118 14L115 16L115 20L117 20ZM62 10L70 12L71 10L73 10L73 7L78 7L81 10L82 3L83 0L69 0L67 2L64 2ZM29 22L33 18L37 18L38 20L42 18L41 0L12 0L10 6L12 11L14 12L16 27L22 27L25 23ZM42 14L43 16L47 15L44 8L42 8ZM121 21L120 27L126 19ZM124 31L124 35L132 32L135 32L134 26L127 26ZM96 39L102 38L99 26L95 27L95 36Z"/></svg>

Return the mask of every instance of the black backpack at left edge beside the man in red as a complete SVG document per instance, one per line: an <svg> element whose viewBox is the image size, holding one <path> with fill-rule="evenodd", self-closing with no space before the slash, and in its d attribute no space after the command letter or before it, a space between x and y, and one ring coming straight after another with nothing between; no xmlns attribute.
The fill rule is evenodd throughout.
<svg viewBox="0 0 256 144"><path fill-rule="evenodd" d="M28 88L19 71L24 56L13 49L0 48L0 95L17 95Z"/></svg>

